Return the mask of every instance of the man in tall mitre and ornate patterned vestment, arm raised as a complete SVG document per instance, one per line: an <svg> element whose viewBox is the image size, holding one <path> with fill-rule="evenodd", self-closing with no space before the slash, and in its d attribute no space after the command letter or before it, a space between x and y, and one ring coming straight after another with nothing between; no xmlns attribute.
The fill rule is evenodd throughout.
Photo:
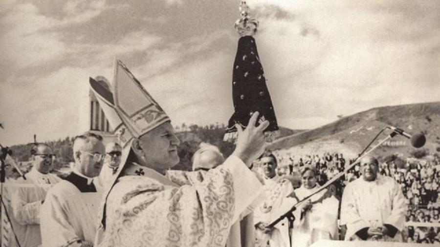
<svg viewBox="0 0 440 247"><path fill-rule="evenodd" d="M95 246L224 247L231 225L251 204L261 183L248 168L264 150L263 130L239 127L237 147L223 164L199 172L166 170L179 162L169 117L120 61L112 92L90 79L123 146L121 166L100 210Z"/></svg>

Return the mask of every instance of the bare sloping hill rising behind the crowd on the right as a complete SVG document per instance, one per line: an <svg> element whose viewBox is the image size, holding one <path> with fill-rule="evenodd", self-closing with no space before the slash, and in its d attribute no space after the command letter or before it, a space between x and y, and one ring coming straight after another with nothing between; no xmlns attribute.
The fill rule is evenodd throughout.
<svg viewBox="0 0 440 247"><path fill-rule="evenodd" d="M440 151L440 102L376 107L281 138L268 148L306 153L339 150L355 156L382 128L389 125L403 128L410 134L424 133L427 139L424 150L431 154ZM386 134L390 132L385 131ZM383 134L379 140L385 137ZM415 148L408 139L396 136L374 152L380 156L394 153L410 156Z"/></svg>

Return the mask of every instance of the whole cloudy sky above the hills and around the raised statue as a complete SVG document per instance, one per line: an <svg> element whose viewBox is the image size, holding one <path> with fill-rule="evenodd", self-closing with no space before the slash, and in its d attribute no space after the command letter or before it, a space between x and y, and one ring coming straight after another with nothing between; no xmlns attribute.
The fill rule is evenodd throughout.
<svg viewBox="0 0 440 247"><path fill-rule="evenodd" d="M239 0L2 0L0 144L88 127L88 78L123 61L173 125L227 123ZM278 123L440 101L440 1L248 0Z"/></svg>

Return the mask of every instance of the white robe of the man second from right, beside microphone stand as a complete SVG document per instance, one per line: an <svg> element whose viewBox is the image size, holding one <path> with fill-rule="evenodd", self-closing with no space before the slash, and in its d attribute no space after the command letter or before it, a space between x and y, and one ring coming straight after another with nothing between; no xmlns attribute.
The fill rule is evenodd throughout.
<svg viewBox="0 0 440 247"><path fill-rule="evenodd" d="M301 186L295 190L295 196L303 200L318 189L318 185L311 189ZM338 239L339 201L334 196L329 196L329 192L324 189L313 195L310 198L313 206L305 214L301 215L299 206L294 211L292 246L308 247L320 239Z"/></svg>

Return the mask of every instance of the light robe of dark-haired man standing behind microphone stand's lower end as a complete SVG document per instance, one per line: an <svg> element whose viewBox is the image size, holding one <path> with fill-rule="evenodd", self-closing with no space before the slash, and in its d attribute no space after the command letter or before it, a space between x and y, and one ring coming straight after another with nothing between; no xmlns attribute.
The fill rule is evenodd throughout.
<svg viewBox="0 0 440 247"><path fill-rule="evenodd" d="M275 176L271 179L263 179L263 181L266 199L254 211L254 225L259 222L266 225L272 223L296 203L294 198L288 197L293 192L293 186L289 180ZM275 225L270 234L256 230L256 238L257 246L266 246L269 242L270 247L290 247L287 219L285 218Z"/></svg>

